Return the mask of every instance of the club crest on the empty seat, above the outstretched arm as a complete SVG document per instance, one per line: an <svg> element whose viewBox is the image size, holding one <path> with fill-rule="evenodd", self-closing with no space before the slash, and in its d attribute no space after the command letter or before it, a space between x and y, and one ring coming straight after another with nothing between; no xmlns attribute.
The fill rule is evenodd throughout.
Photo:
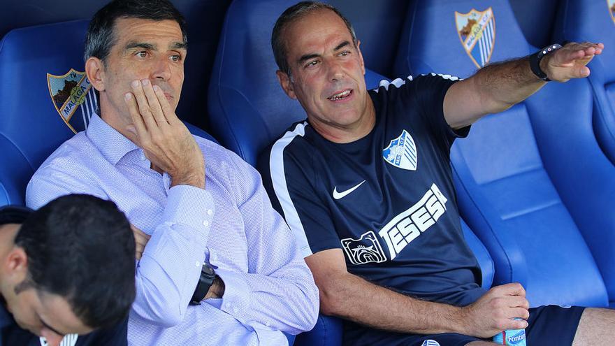
<svg viewBox="0 0 615 346"><path fill-rule="evenodd" d="M495 44L495 17L491 7L482 12L474 8L468 13L455 11L455 23L465 52L479 69L485 66Z"/></svg>

